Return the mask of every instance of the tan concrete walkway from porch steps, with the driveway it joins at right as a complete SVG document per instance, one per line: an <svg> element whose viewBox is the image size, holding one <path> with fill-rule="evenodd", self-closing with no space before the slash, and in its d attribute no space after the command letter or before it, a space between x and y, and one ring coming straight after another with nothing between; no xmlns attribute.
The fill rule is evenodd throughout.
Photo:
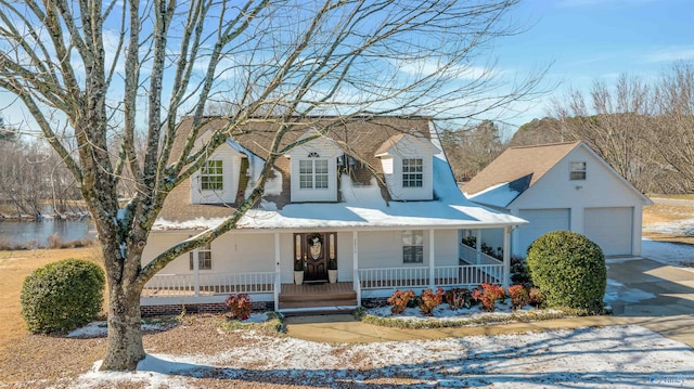
<svg viewBox="0 0 694 389"><path fill-rule="evenodd" d="M618 285L612 316L437 329L381 327L351 315L297 316L286 320L287 333L312 341L359 343L635 324L694 348L694 272L650 259L617 259L608 260L607 273ZM634 301L634 297L645 299Z"/></svg>

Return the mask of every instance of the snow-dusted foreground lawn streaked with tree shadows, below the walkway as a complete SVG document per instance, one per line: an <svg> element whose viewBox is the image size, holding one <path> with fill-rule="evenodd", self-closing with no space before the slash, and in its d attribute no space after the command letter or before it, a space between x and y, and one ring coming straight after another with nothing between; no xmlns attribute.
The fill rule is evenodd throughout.
<svg viewBox="0 0 694 389"><path fill-rule="evenodd" d="M133 373L93 369L74 387L183 388L195 377L327 387L691 387L694 353L640 326L440 340L326 345L254 335L216 355L149 354ZM385 381L384 381L385 380ZM221 382L220 382L221 384ZM229 382L232 385L232 382Z"/></svg>

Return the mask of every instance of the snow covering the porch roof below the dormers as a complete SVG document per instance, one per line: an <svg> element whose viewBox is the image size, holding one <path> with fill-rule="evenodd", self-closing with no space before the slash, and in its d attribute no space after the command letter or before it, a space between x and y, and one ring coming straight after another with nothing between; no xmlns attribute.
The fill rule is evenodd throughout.
<svg viewBox="0 0 694 389"><path fill-rule="evenodd" d="M435 131L435 129L432 129ZM434 133L433 133L434 134ZM434 145L438 142L433 137ZM439 146L439 150L442 150ZM272 203L250 209L239 221L240 230L262 229L385 229L385 228L502 228L527 223L514 216L484 208L462 195L446 156L434 156L434 193L436 199L426 202L386 203L378 185L356 185L347 176L340 178L342 203L287 204L278 209ZM188 220L184 222L157 220L154 230L197 230L214 228L222 218Z"/></svg>

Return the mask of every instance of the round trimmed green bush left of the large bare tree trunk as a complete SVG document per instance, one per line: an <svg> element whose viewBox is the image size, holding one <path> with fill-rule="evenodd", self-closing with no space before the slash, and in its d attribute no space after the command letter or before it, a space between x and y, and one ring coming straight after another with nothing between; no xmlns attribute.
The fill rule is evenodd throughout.
<svg viewBox="0 0 694 389"><path fill-rule="evenodd" d="M34 334L65 333L92 321L103 303L103 270L65 259L35 270L22 285L22 315Z"/></svg>

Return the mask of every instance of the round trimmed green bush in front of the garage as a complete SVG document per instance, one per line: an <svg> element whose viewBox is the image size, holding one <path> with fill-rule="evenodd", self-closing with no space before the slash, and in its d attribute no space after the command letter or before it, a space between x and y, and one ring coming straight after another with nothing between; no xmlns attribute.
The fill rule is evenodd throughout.
<svg viewBox="0 0 694 389"><path fill-rule="evenodd" d="M570 231L550 232L528 247L526 262L549 307L603 311L607 268L594 242Z"/></svg>

